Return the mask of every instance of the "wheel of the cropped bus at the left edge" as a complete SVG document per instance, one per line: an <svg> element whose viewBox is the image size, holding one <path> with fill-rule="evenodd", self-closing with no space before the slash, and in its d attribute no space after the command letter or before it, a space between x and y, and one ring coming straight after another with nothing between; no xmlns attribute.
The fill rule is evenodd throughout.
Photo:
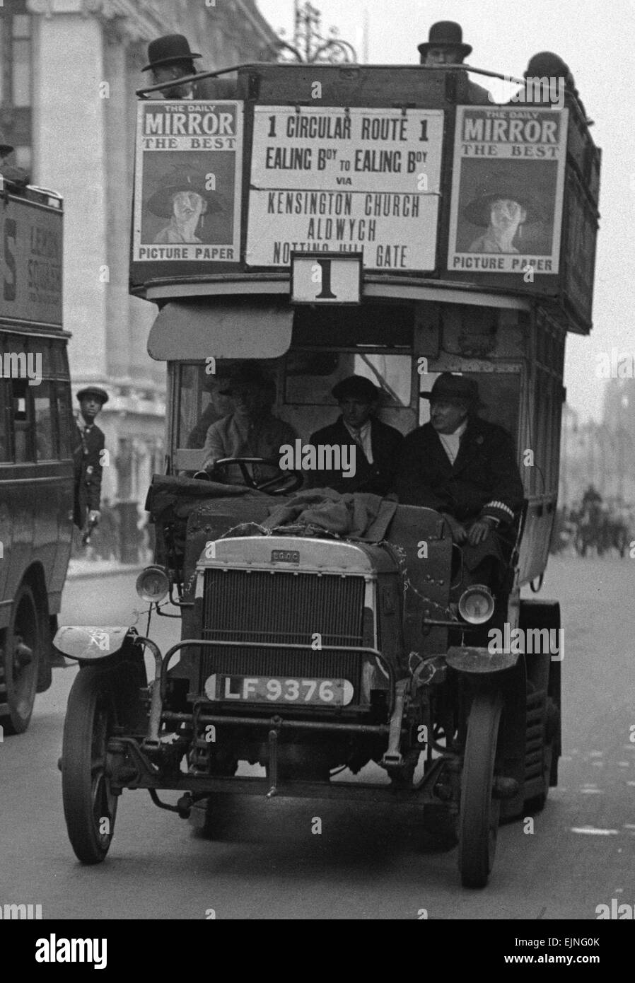
<svg viewBox="0 0 635 983"><path fill-rule="evenodd" d="M23 733L33 712L43 658L42 618L29 584L21 584L0 647L0 725Z"/></svg>

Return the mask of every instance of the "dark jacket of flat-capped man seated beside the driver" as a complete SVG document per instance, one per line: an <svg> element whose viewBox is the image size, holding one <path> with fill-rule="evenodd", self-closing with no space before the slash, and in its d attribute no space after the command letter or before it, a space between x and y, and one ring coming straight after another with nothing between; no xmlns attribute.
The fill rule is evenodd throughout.
<svg viewBox="0 0 635 983"><path fill-rule="evenodd" d="M355 447L355 475L353 477L344 478L341 471L312 471L308 472L309 488L329 488L340 494L373 492L384 495L394 481L399 451L403 443L403 434L400 434L394 427L389 427L377 420L376 417L372 417L373 464L369 463L362 448L349 434L341 416L337 418L334 424L323 427L322 430L312 434L309 442L313 446L327 444Z"/></svg>

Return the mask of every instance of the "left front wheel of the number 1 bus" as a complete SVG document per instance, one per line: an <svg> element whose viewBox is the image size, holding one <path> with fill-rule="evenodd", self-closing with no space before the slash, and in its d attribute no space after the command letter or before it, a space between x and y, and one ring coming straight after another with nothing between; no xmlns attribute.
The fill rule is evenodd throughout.
<svg viewBox="0 0 635 983"><path fill-rule="evenodd" d="M69 695L62 748L62 798L71 845L82 863L100 863L112 840L117 797L106 768L115 724L110 673L80 669Z"/></svg>

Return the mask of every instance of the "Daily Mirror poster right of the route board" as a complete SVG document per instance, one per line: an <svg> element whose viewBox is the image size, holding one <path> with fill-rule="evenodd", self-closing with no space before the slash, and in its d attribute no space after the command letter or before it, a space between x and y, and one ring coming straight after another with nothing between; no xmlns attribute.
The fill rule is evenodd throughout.
<svg viewBox="0 0 635 983"><path fill-rule="evenodd" d="M448 269L558 272L567 117L457 108Z"/></svg>

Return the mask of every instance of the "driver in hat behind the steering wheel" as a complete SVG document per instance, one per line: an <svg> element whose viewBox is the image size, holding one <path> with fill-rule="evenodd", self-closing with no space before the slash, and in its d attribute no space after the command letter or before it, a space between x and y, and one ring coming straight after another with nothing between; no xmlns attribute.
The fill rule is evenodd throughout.
<svg viewBox="0 0 635 983"><path fill-rule="evenodd" d="M202 454L203 471L212 472L224 457L264 457L279 460L280 447L294 445L298 434L293 427L271 413L275 402L275 382L260 366L244 363L236 370L221 396L231 396L234 412L213 423L207 430ZM256 482L270 481L279 475L275 467L254 465ZM217 480L227 485L244 485L238 465L228 465Z"/></svg>

